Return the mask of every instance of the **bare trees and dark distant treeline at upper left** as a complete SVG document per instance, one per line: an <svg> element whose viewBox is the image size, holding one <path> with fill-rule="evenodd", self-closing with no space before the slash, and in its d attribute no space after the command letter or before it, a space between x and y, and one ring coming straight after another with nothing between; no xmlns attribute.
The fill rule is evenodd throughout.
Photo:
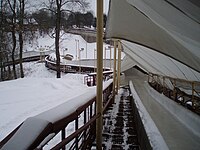
<svg viewBox="0 0 200 150"><path fill-rule="evenodd" d="M24 43L30 43L38 32L40 36L48 34L55 39L59 78L60 31L73 27L95 27L94 15L85 9L89 6L86 0L49 1L30 12L27 0L1 0L0 3L0 81L24 77Z"/></svg>

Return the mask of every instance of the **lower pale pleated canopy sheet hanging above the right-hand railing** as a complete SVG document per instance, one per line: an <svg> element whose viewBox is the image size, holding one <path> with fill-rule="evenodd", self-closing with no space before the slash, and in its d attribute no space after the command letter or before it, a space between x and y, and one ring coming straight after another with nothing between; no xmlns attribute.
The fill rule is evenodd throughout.
<svg viewBox="0 0 200 150"><path fill-rule="evenodd" d="M156 51L123 41L127 56L122 61L122 71L137 65L147 72L189 81L200 81L200 73Z"/></svg>

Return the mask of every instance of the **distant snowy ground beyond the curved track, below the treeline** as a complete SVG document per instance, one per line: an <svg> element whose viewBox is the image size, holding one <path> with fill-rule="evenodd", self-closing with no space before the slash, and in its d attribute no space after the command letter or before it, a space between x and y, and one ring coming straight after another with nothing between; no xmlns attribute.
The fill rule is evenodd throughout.
<svg viewBox="0 0 200 150"><path fill-rule="evenodd" d="M60 38L60 55L70 54L73 56L73 60L80 59L96 59L96 43L87 43L80 35L74 35L69 33L61 33L62 36ZM36 33L35 38L31 42L26 42L24 45L25 51L55 51L55 39L51 38L49 35L45 34L40 36L39 33ZM110 45L104 43L103 44L103 58L105 59L113 59L114 56L114 48L111 48L110 53ZM111 55L110 55L111 54ZM124 57L124 53L122 52L122 58Z"/></svg>

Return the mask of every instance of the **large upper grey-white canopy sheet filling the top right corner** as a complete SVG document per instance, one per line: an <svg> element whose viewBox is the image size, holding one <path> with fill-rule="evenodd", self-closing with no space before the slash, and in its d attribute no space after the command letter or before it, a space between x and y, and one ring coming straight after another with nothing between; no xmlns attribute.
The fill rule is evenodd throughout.
<svg viewBox="0 0 200 150"><path fill-rule="evenodd" d="M200 72L199 22L200 5L195 0L111 0L106 38L143 45Z"/></svg>

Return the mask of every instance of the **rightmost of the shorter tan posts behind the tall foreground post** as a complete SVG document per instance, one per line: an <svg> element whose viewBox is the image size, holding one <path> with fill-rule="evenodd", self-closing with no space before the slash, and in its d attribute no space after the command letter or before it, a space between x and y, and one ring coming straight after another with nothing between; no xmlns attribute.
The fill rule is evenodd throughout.
<svg viewBox="0 0 200 150"><path fill-rule="evenodd" d="M118 64L117 64L117 91L120 87L120 73L121 73L121 51L122 51L122 45L121 41L118 41Z"/></svg>

